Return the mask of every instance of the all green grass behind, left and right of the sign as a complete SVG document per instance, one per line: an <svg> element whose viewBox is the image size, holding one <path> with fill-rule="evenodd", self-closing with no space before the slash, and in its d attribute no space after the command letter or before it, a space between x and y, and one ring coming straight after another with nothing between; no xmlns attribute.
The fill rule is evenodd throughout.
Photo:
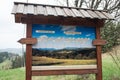
<svg viewBox="0 0 120 80"><path fill-rule="evenodd" d="M0 80L25 80L25 69L1 70ZM32 80L95 80L94 75L62 75L32 77ZM110 56L103 57L103 80L120 80L120 70Z"/></svg>

